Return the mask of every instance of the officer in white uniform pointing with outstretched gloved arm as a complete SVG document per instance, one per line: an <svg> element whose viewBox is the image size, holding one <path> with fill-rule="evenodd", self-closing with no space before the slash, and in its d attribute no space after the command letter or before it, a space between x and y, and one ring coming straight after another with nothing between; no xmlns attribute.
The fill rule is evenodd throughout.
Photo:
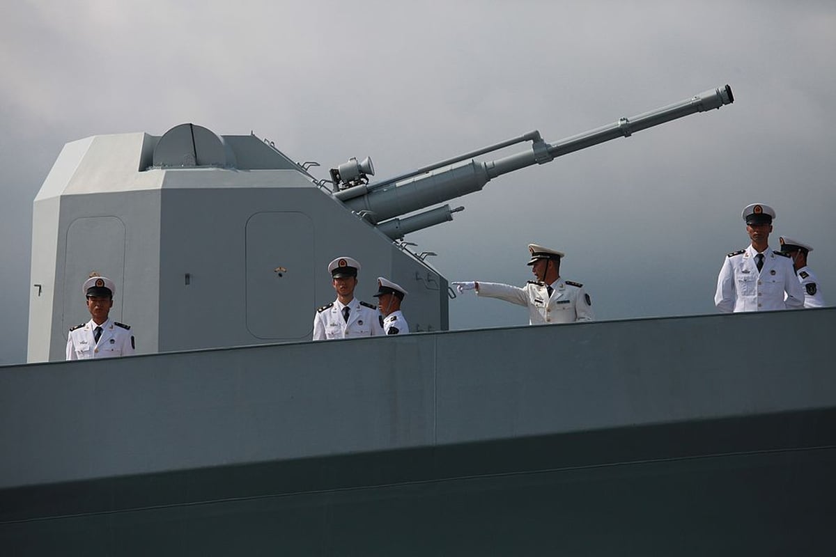
<svg viewBox="0 0 836 557"><path fill-rule="evenodd" d="M453 282L459 292L476 289L478 296L510 301L528 306L531 325L592 321L592 299L584 292L584 285L560 277L560 260L565 254L538 244L528 244L532 267L537 281L528 281L519 288L497 282Z"/></svg>

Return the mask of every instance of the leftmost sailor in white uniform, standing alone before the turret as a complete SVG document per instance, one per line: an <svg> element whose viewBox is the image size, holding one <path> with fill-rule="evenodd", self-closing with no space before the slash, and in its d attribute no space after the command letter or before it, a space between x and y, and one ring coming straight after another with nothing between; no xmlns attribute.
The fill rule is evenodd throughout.
<svg viewBox="0 0 836 557"><path fill-rule="evenodd" d="M93 275L82 286L87 309L93 318L69 330L66 357L88 360L98 357L128 356L135 351L130 326L110 319L116 286L106 276Z"/></svg>

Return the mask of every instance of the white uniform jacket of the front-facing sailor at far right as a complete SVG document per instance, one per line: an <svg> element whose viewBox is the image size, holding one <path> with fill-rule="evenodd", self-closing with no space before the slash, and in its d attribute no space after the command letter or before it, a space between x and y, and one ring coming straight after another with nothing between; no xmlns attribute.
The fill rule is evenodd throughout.
<svg viewBox="0 0 836 557"><path fill-rule="evenodd" d="M767 311L797 309L804 306L804 291L793 270L793 260L781 252L763 251L763 267L757 271L757 250L745 250L726 256L714 303L724 313L732 311ZM786 301L784 292L787 293Z"/></svg>

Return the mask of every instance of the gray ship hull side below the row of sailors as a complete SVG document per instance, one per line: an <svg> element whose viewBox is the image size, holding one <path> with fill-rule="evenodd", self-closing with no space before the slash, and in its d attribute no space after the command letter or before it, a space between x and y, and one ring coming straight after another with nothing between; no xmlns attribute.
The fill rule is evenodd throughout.
<svg viewBox="0 0 836 557"><path fill-rule="evenodd" d="M3 367L0 546L831 554L834 326L828 308Z"/></svg>

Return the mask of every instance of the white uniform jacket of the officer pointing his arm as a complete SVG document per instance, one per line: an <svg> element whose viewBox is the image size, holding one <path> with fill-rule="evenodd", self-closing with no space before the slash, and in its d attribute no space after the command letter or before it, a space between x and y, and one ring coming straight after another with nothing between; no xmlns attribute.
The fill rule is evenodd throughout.
<svg viewBox="0 0 836 557"><path fill-rule="evenodd" d="M528 306L530 325L592 321L595 318L589 295L584 293L584 285L577 282L558 278L551 285L552 296L548 296L548 288L542 282L528 281L523 288L497 282L479 281L477 284L478 296Z"/></svg>

